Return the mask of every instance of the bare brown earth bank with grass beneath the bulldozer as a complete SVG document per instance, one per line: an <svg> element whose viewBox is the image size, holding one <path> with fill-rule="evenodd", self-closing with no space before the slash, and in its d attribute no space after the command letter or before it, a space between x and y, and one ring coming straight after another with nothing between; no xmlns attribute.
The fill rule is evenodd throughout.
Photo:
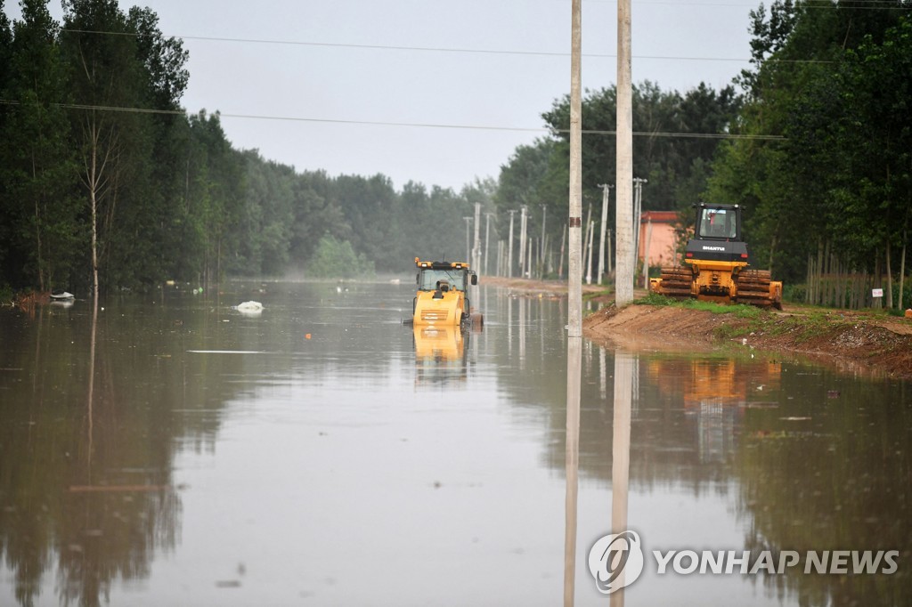
<svg viewBox="0 0 912 607"><path fill-rule="evenodd" d="M484 278L516 296L565 296L566 283ZM779 311L709 312L680 305L631 304L618 309L602 287L584 296L602 305L586 314L583 334L635 350L747 349L795 355L850 373L912 379L912 320L872 311L783 306ZM645 296L637 292L637 299Z"/></svg>

